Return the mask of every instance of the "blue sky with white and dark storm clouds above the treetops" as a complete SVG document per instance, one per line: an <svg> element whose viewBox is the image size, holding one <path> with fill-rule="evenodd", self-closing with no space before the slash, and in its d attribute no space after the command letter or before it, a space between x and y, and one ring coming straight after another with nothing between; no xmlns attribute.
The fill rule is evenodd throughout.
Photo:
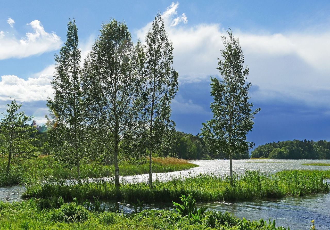
<svg viewBox="0 0 330 230"><path fill-rule="evenodd" d="M133 41L144 43L159 10L179 73L171 106L178 131L198 134L212 118L209 79L220 77L221 36L230 27L249 67L250 101L261 108L248 141L330 140L329 1L0 0L0 6L0 112L15 97L45 123L54 54L69 18L76 20L83 59L102 23L125 21Z"/></svg>

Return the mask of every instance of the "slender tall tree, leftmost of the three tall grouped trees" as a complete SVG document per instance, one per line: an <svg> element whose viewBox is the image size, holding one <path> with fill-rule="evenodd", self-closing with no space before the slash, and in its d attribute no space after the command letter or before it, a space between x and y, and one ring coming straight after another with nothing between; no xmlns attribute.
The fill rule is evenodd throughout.
<svg viewBox="0 0 330 230"><path fill-rule="evenodd" d="M67 40L55 55L56 67L54 80L54 100L50 98L47 106L56 115L56 127L50 132L50 138L56 154L70 166L77 167L77 179L80 178L80 161L85 155L85 119L82 101L80 67L81 51L78 48L78 30L73 19L68 22Z"/></svg>

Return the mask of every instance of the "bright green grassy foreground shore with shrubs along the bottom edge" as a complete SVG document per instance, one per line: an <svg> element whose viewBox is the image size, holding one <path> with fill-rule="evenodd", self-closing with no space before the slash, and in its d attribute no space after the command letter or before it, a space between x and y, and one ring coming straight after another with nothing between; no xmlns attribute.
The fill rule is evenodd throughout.
<svg viewBox="0 0 330 230"><path fill-rule="evenodd" d="M121 229L121 230L285 230L275 227L275 221L250 221L233 214L206 212L197 220L172 211L145 210L124 215L120 212L92 212L72 202L59 209L38 208L38 202L0 202L0 229ZM289 229L289 228L287 228Z"/></svg>

